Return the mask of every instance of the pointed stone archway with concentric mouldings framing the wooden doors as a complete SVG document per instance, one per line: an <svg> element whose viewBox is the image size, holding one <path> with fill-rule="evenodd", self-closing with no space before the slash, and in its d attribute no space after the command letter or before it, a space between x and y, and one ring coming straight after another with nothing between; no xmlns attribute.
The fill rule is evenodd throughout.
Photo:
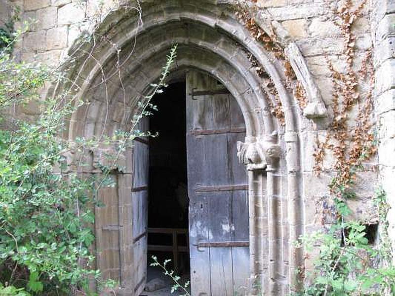
<svg viewBox="0 0 395 296"><path fill-rule="evenodd" d="M107 16L99 28L100 36L106 38L101 39L97 50L89 53L95 62L84 63L86 56L79 57L75 73L84 77L78 78L82 85L79 96L88 99L90 104L79 108L71 118L67 137L72 141L76 137L111 135L127 128L131 116L138 110L138 102L160 75L169 48L178 43L173 71L192 68L214 76L236 98L243 113L246 141L239 145L239 158L248 166L250 280L257 283L265 295L285 295L297 289L297 271L303 267L302 251L294 246L303 233L300 115L285 87L282 63L248 37L249 32L227 8L227 1L223 4L200 2L203 1L198 4L192 0L150 2L143 6L142 26L138 25L140 16L130 11L116 11ZM319 113L316 109L322 102L308 79L303 58L295 44L288 42L285 46L295 73L299 78L303 76L301 82L310 94L313 113ZM121 49L119 55L117 48ZM89 48L85 48L87 52ZM130 52L133 52L131 57ZM282 103L284 127L272 116L271 95L262 88L263 81L245 52L252 54L272 79ZM122 65L119 74L114 72L117 63ZM106 83L103 83L104 77ZM95 227L97 267L106 269L103 267L105 257L116 256L118 252L113 265L102 271L106 276L119 279L121 288L133 294L140 291L135 288L141 279L135 277L135 261L130 254L133 254L133 239L141 234L132 231L131 205L127 202L135 173L128 153L133 151L126 151L119 160L125 169L118 174L118 187L101 193L103 198L106 195L116 200L111 207L116 209L117 217L114 221L102 221L101 210L97 209ZM100 173L94 164L102 154L100 149L93 151L92 167L86 169L88 173ZM117 232L113 236L118 240L114 254L105 248L104 236L108 234L103 231Z"/></svg>

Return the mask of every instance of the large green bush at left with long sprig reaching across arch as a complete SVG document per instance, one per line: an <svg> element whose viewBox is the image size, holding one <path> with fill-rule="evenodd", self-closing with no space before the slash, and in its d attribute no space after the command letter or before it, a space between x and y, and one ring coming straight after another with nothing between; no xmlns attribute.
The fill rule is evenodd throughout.
<svg viewBox="0 0 395 296"><path fill-rule="evenodd" d="M112 185L110 170L103 167L105 177L100 180L61 172L67 167L65 155L98 147L101 142L60 139L65 118L83 103L77 103L77 98L66 102L68 94L64 93L39 99L40 88L47 82L61 82L62 74L40 64L14 62L9 48L15 38L8 40L0 48L0 295L73 295L79 291L90 295L93 279L102 284L100 272L91 265L92 209L98 206L94 197L100 186ZM133 128L101 141L116 144L119 153L131 143L134 127L155 107L150 100L165 86L175 55L176 46L160 81L141 104L142 112L133 118ZM40 110L34 118L10 116L10 111L32 103Z"/></svg>

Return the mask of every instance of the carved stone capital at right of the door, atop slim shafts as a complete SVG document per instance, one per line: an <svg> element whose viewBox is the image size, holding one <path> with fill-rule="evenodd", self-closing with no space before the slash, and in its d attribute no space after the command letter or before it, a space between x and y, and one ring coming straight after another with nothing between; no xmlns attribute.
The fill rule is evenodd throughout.
<svg viewBox="0 0 395 296"><path fill-rule="evenodd" d="M265 170L280 157L281 149L276 142L276 133L262 139L247 137L245 143L237 142L237 157L241 163L247 165L249 171Z"/></svg>

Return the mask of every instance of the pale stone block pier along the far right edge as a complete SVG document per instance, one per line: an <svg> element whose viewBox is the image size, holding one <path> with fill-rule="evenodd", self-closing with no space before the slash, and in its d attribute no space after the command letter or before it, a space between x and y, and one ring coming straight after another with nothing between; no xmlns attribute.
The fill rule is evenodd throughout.
<svg viewBox="0 0 395 296"><path fill-rule="evenodd" d="M380 181L391 209L389 235L395 255L395 2L378 0L372 17L375 66L375 104L379 130Z"/></svg>

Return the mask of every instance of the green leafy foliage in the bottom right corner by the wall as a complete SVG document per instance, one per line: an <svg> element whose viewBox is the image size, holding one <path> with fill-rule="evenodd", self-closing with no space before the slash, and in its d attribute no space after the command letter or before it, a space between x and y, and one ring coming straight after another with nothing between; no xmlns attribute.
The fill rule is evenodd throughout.
<svg viewBox="0 0 395 296"><path fill-rule="evenodd" d="M382 223L379 246L368 244L362 222L345 221L351 211L344 201L336 200L338 222L327 232L303 238L307 251L316 249L318 255L304 291L296 295L395 295L395 266L386 221L389 207L382 190L377 190L375 201Z"/></svg>

